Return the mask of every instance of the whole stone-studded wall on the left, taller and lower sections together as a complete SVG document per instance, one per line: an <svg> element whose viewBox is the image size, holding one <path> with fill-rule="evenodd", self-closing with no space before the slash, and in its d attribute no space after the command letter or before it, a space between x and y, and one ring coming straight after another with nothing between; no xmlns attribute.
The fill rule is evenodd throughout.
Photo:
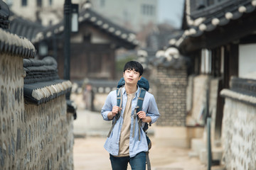
<svg viewBox="0 0 256 170"><path fill-rule="evenodd" d="M0 169L73 169L73 114L67 114L65 95L40 105L25 103L23 57L29 45L1 34L10 41L0 36Z"/></svg>

